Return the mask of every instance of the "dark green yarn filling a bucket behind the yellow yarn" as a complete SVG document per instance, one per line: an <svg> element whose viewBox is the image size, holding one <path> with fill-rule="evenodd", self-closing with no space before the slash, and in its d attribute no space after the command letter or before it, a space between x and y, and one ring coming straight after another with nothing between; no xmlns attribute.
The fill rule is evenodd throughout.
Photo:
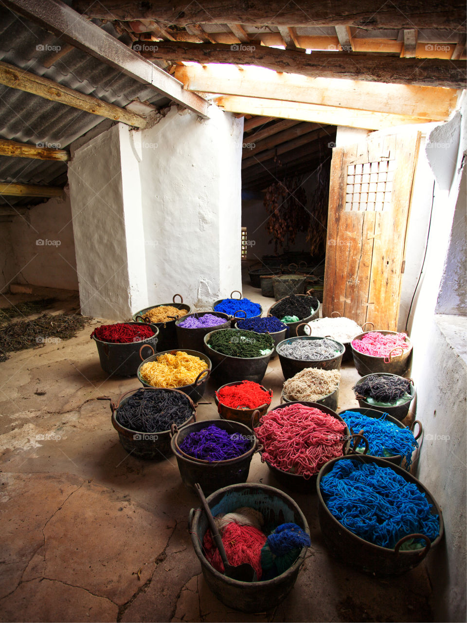
<svg viewBox="0 0 467 623"><path fill-rule="evenodd" d="M269 354L274 348L274 341L267 333L219 329L212 333L207 345L217 353L227 354L230 357L252 358Z"/></svg>

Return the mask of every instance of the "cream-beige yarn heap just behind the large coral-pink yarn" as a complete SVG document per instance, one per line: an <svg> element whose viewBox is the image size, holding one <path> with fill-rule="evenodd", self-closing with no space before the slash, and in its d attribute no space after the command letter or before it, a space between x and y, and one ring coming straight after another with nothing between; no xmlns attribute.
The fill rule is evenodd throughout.
<svg viewBox="0 0 467 623"><path fill-rule="evenodd" d="M305 368L284 383L282 395L286 400L316 402L339 387L339 370Z"/></svg>

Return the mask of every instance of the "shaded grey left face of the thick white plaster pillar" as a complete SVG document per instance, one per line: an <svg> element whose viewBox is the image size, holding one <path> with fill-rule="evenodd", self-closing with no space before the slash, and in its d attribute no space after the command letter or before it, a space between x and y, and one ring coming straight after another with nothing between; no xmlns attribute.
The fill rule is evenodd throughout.
<svg viewBox="0 0 467 623"><path fill-rule="evenodd" d="M82 313L126 319L131 302L118 125L75 151L68 181Z"/></svg>

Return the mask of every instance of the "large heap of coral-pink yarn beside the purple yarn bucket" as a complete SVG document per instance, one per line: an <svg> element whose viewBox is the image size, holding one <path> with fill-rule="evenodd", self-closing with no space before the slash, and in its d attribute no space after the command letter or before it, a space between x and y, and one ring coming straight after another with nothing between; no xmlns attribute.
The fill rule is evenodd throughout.
<svg viewBox="0 0 467 623"><path fill-rule="evenodd" d="M346 425L314 407L291 404L269 411L254 430L264 446L262 461L310 478L342 455Z"/></svg>

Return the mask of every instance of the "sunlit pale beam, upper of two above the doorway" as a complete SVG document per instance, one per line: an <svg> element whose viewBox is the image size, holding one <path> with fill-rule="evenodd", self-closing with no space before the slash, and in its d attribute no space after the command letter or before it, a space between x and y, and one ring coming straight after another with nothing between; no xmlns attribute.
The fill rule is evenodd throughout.
<svg viewBox="0 0 467 623"><path fill-rule="evenodd" d="M180 65L176 78L196 92L242 95L379 113L397 112L442 121L455 110L458 91L438 87L381 84L339 78L308 78L258 67Z"/></svg>

